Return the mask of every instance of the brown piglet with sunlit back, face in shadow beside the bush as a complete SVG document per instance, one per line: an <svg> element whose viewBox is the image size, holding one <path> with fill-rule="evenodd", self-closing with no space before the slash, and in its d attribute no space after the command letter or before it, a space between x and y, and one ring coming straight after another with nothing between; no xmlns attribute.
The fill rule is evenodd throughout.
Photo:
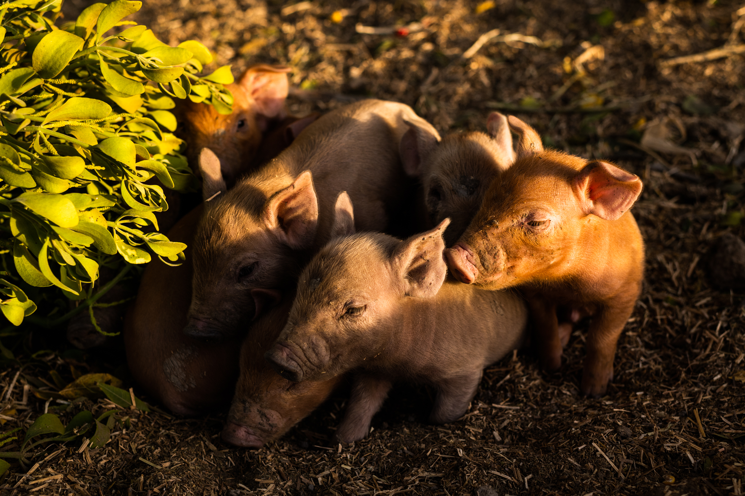
<svg viewBox="0 0 745 496"><path fill-rule="evenodd" d="M194 242L185 332L200 339L242 332L294 287L303 263L330 239L338 192L348 191L358 205L360 230L382 230L405 217L399 206L413 184L399 145L407 122L431 128L405 104L364 100L341 107L224 194L218 194L225 188L219 163L203 151L203 195L214 198Z"/></svg>

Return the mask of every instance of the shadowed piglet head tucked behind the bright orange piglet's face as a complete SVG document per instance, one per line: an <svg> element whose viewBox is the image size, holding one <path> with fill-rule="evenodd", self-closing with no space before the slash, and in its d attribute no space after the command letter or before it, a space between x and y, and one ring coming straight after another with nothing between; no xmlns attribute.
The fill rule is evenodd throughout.
<svg viewBox="0 0 745 496"><path fill-rule="evenodd" d="M515 161L507 117L490 113L486 131L452 133L440 141L411 122L401 141L404 170L422 183L420 204L429 224L451 220L445 233L448 246L468 227L492 179Z"/></svg>

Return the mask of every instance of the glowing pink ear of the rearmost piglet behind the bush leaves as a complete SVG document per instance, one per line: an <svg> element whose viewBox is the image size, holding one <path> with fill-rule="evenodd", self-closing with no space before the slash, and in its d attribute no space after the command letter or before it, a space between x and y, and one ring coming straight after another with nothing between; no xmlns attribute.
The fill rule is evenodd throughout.
<svg viewBox="0 0 745 496"><path fill-rule="evenodd" d="M291 70L285 66L253 66L241 75L238 84L253 99L257 113L284 119L287 115L285 99L289 90L287 73Z"/></svg>

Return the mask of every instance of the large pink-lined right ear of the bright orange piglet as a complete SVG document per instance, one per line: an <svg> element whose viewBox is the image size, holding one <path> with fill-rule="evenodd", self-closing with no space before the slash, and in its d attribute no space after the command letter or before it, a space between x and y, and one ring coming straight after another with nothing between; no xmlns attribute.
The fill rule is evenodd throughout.
<svg viewBox="0 0 745 496"><path fill-rule="evenodd" d="M574 179L580 207L586 215L615 221L629 210L641 193L635 174L607 162L591 162Z"/></svg>

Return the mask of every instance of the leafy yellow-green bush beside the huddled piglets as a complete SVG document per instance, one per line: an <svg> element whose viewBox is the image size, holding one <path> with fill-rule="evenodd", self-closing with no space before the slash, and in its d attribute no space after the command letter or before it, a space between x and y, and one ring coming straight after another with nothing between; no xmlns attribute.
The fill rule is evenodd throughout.
<svg viewBox="0 0 745 496"><path fill-rule="evenodd" d="M141 1L92 4L57 27L61 1L0 4L0 310L16 326L40 300L52 310L36 321L63 322L153 254L183 260L154 215L168 210L162 186L195 186L168 110L189 98L232 111L229 66L200 75L204 45L122 21ZM94 291L100 266L118 275Z"/></svg>

